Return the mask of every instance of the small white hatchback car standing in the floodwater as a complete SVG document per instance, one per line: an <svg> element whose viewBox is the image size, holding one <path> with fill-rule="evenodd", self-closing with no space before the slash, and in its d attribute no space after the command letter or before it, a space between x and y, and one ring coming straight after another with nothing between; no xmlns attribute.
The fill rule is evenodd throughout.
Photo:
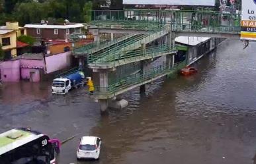
<svg viewBox="0 0 256 164"><path fill-rule="evenodd" d="M77 159L99 159L101 142L99 137L83 136L77 148Z"/></svg>

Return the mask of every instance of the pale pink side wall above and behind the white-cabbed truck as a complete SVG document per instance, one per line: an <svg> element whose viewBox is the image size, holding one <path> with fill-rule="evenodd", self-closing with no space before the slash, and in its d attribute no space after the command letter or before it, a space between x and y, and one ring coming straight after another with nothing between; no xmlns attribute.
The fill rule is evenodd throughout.
<svg viewBox="0 0 256 164"><path fill-rule="evenodd" d="M71 66L71 51L46 57L46 73L55 72Z"/></svg>

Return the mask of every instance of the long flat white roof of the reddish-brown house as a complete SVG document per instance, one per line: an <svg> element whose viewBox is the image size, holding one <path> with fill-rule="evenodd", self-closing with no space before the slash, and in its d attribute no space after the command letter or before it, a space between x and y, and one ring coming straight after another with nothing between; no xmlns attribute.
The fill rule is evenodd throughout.
<svg viewBox="0 0 256 164"><path fill-rule="evenodd" d="M48 25L48 24L26 24L25 28L52 28L52 29L67 29L67 28L81 28L83 24L67 24L67 25Z"/></svg>

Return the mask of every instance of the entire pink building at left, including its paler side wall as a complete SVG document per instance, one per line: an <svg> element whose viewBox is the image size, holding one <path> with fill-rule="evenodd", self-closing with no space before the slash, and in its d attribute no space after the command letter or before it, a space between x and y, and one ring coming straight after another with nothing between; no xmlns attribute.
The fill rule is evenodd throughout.
<svg viewBox="0 0 256 164"><path fill-rule="evenodd" d="M0 63L0 79L3 82L30 80L39 82L42 74L49 74L71 66L71 51L46 56L42 54L24 54L10 61Z"/></svg>

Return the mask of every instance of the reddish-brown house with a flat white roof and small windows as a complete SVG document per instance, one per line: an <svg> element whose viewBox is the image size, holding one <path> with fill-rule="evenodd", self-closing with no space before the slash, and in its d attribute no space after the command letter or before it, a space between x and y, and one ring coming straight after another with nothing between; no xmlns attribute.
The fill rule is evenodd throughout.
<svg viewBox="0 0 256 164"><path fill-rule="evenodd" d="M81 34L83 24L26 24L27 34L37 39L64 40L67 41L69 34Z"/></svg>

